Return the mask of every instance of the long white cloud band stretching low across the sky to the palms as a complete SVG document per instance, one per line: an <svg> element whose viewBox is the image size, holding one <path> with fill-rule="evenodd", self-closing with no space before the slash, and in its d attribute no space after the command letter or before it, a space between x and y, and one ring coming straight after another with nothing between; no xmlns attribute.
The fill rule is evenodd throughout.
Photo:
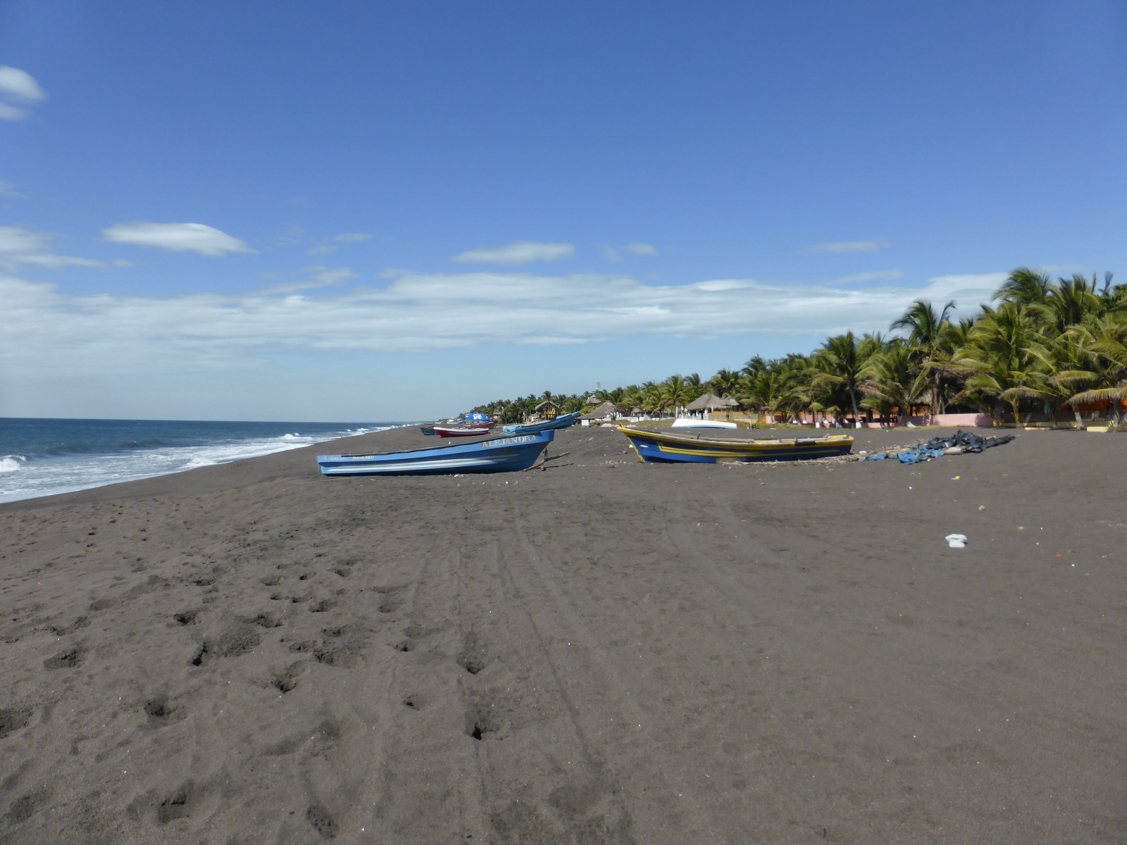
<svg viewBox="0 0 1127 845"><path fill-rule="evenodd" d="M0 274L0 359L28 377L46 379L53 372L245 368L277 349L411 353L646 337L808 340L848 329L887 330L921 297L955 299L960 313L973 314L1006 275L858 290L754 279L654 285L615 274L401 273L382 288L303 295L356 278L343 267L303 273L301 283L268 291L168 297L77 296Z"/></svg>

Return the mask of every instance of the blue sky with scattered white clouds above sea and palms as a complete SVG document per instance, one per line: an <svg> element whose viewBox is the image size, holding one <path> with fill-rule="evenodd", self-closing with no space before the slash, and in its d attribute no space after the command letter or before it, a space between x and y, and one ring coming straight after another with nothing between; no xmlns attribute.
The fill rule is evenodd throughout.
<svg viewBox="0 0 1127 845"><path fill-rule="evenodd" d="M0 0L0 416L411 420L1127 281L1117 2Z"/></svg>

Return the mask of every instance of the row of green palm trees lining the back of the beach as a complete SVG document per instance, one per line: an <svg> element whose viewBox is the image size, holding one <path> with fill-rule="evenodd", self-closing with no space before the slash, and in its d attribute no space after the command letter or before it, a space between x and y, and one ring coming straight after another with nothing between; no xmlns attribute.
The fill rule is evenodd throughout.
<svg viewBox="0 0 1127 845"><path fill-rule="evenodd" d="M707 381L671 375L662 382L596 390L582 395L545 391L474 408L503 422L520 422L544 401L561 413L609 401L621 415L640 409L675 416L707 392L748 409L789 419L813 412L825 419L930 413L1046 410L1106 403L1118 426L1127 400L1127 285L1100 285L1081 275L1053 282L1028 268L1010 274L990 305L951 320L955 302L937 310L917 300L889 327L904 336L852 331L826 338L809 355L720 370Z"/></svg>

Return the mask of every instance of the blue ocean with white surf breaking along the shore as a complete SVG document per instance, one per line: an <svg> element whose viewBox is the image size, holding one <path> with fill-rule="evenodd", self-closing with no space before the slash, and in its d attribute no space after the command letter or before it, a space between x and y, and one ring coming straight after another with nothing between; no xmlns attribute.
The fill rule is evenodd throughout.
<svg viewBox="0 0 1127 845"><path fill-rule="evenodd" d="M239 461L407 422L0 417L0 502Z"/></svg>

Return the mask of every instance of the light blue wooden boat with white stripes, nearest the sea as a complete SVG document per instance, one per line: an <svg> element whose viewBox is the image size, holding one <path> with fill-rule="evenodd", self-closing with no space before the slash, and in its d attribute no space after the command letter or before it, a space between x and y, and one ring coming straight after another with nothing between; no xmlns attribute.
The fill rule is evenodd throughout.
<svg viewBox="0 0 1127 845"><path fill-rule="evenodd" d="M323 475L450 475L462 472L514 472L532 466L554 436L554 432L542 432L407 452L318 455L317 463Z"/></svg>

